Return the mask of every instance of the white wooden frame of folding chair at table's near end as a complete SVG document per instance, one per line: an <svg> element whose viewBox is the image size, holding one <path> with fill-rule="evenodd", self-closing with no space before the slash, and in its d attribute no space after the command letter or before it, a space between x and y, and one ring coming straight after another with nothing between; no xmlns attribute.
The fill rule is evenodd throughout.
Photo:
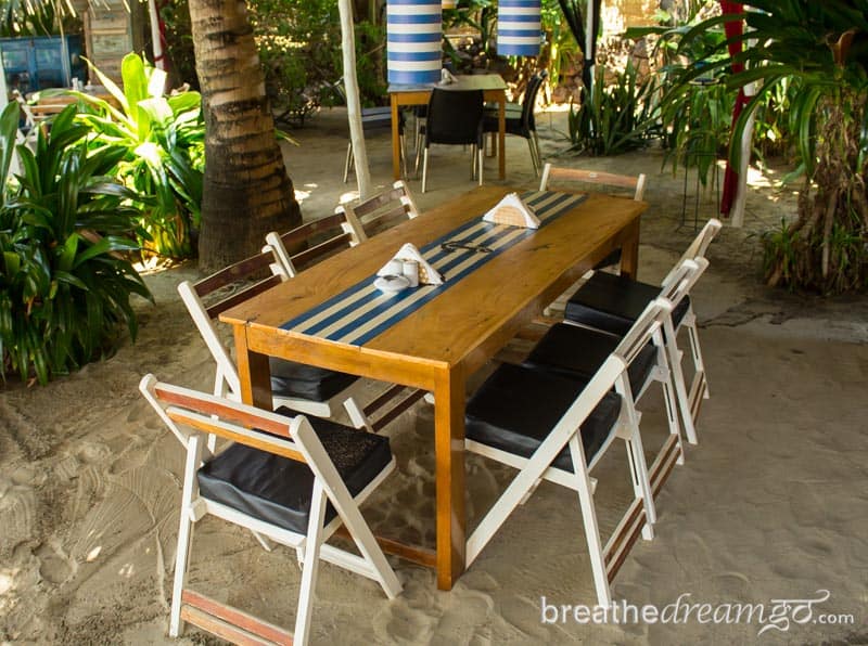
<svg viewBox="0 0 868 646"><path fill-rule="evenodd" d="M304 416L284 417L221 397L162 384L153 375L143 377L139 389L187 450L169 616L170 636L180 635L186 621L239 644L307 644L319 560L327 560L376 581L388 598L395 598L400 593L401 585L358 508L394 470L394 456L354 499ZM201 495L196 471L203 461L212 457L209 445L214 442L209 438L215 436L308 465L314 473L315 483L306 534L265 522ZM331 502L337 515L326 525L328 502ZM208 514L298 552L302 582L294 633L187 587L193 525ZM361 556L326 544L341 525L346 527Z"/></svg>

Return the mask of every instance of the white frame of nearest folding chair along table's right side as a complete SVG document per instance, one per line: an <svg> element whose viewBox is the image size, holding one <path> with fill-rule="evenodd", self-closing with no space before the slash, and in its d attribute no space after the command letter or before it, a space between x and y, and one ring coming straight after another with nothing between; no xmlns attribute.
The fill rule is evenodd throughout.
<svg viewBox="0 0 868 646"><path fill-rule="evenodd" d="M634 405L635 400L630 390L627 367L653 335L660 331L671 311L672 303L662 298L648 306L630 332L622 339L615 351L588 382L575 402L529 458L520 457L472 440L464 441L467 450L520 469L519 475L510 482L468 539L468 565L475 560L513 509L533 493L537 482L541 479L550 480L577 492L598 604L609 606L612 603L611 581L626 559L627 553L639 533L641 532L646 540L653 538L653 524L656 521L654 500L639 434L639 415ZM579 440L580 426L612 388L621 396L622 400L618 419L603 445L588 463ZM609 541L603 545L593 506L595 483L591 481L590 471L615 437L625 440L627 447L634 500ZM569 447L574 473L551 466L564 447Z"/></svg>

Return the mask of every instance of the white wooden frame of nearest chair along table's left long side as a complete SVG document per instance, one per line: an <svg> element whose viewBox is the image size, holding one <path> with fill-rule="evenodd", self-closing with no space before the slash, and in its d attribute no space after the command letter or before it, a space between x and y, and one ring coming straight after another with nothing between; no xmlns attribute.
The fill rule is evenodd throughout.
<svg viewBox="0 0 868 646"><path fill-rule="evenodd" d="M256 275L257 273L264 274L266 272L269 274L267 277L238 289L217 302L206 306L202 301L202 298L205 296L237 284L246 276ZM235 262L197 283L183 281L178 285L178 294L180 294L181 300L184 306L187 306L187 311L190 312L190 316L193 319L196 330L199 330L208 350L210 350L212 357L214 357L214 360L217 362L217 371L214 380L215 395L224 396L228 393L235 400L241 399L241 382L238 375L238 369L235 367L229 349L217 334L217 327L215 326L217 316L273 285L289 280L289 275L290 274L283 270L283 263L277 254L268 248L267 251ZM275 408L285 405L299 413L316 415L317 417L332 417L335 414L335 410L343 405L349 415L353 426L372 431L373 427L371 423L355 399L359 388L360 385L356 382L326 401L278 396L273 398L273 405Z"/></svg>

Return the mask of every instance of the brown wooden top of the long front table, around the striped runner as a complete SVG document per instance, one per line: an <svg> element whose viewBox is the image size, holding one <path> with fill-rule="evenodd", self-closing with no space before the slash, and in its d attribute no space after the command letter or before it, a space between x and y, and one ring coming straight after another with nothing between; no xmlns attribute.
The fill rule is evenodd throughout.
<svg viewBox="0 0 868 646"><path fill-rule="evenodd" d="M220 319L233 325L247 324L254 351L273 351L277 356L285 351L298 361L340 366L346 372L365 373L359 366L367 366L373 356L381 363L387 363L390 357L410 358L420 364L462 364L475 370L601 260L615 244L613 236L640 216L646 203L589 194L574 209L360 347L279 328L359 281L372 281L404 243L422 247L478 218L512 191L505 186L477 188L311 267L228 310ZM257 348L259 341L269 348Z"/></svg>

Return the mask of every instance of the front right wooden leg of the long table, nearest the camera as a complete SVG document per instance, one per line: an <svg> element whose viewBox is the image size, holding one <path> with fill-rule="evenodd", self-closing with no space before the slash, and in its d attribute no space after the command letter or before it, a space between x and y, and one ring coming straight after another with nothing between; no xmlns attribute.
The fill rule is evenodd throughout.
<svg viewBox="0 0 868 646"><path fill-rule="evenodd" d="M434 389L437 489L437 587L451 590L464 571L464 378L445 372Z"/></svg>

